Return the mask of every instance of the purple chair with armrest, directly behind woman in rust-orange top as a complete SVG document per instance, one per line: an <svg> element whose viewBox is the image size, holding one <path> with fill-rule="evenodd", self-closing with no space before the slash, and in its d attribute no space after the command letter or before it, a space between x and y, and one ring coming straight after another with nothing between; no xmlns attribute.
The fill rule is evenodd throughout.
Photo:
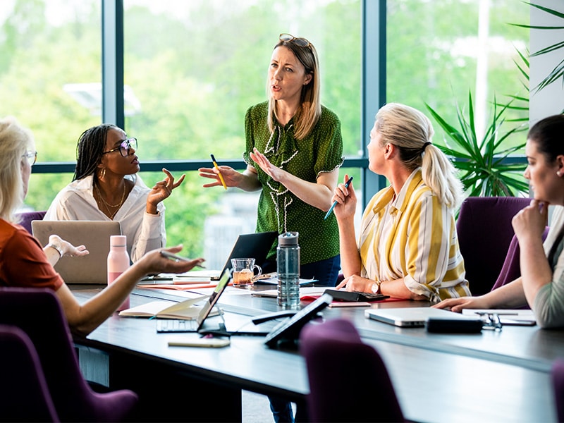
<svg viewBox="0 0 564 423"><path fill-rule="evenodd" d="M130 417L136 393L96 393L83 378L63 309L51 290L0 288L0 324L18 326L30 337L62 422L120 422Z"/></svg>

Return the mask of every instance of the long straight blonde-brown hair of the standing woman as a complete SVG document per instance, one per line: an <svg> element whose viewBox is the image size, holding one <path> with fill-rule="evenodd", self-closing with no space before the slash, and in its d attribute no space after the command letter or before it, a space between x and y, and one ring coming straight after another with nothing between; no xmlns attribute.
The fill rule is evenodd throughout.
<svg viewBox="0 0 564 423"><path fill-rule="evenodd" d="M274 49L278 47L287 47L295 55L296 59L302 63L305 73L312 75L309 84L302 87L302 97L300 99L300 107L294 116L294 137L297 140L303 140L307 137L321 117L321 102L319 101L321 82L319 80L319 59L317 51L313 44L307 47L300 47L293 41L280 41ZM266 80L266 92L269 93L269 80ZM274 119L276 116L276 100L269 95L269 116L268 123L270 132L274 132Z"/></svg>

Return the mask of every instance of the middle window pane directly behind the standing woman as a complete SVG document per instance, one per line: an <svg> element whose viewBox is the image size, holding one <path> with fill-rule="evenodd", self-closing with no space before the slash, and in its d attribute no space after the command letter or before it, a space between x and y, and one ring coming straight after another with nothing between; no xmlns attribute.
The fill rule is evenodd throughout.
<svg viewBox="0 0 564 423"><path fill-rule="evenodd" d="M137 99L125 116L148 160L210 166L242 160L244 116L266 100L266 73L281 32L314 44L321 101L341 118L345 154L360 147L360 1L125 0L124 85ZM150 28L150 30L147 30ZM157 174L143 175L152 183ZM202 247L221 267L239 233L255 231L257 193L204 189L196 172L166 200L171 242ZM194 249L194 254L202 250Z"/></svg>

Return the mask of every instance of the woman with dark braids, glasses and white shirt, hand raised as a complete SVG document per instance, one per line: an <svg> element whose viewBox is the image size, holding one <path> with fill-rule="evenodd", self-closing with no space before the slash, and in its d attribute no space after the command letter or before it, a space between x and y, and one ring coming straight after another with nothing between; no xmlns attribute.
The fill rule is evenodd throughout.
<svg viewBox="0 0 564 423"><path fill-rule="evenodd" d="M148 188L137 172L137 140L116 125L85 130L78 139L73 182L55 197L45 220L116 220L128 238L128 252L137 262L147 251L166 245L164 204L174 188L172 174Z"/></svg>

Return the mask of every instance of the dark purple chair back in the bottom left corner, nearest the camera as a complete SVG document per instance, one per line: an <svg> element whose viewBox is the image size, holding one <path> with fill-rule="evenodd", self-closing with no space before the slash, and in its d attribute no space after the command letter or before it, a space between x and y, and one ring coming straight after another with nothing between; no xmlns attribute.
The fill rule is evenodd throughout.
<svg viewBox="0 0 564 423"><path fill-rule="evenodd" d="M47 381L30 337L0 325L0 420L59 422Z"/></svg>

